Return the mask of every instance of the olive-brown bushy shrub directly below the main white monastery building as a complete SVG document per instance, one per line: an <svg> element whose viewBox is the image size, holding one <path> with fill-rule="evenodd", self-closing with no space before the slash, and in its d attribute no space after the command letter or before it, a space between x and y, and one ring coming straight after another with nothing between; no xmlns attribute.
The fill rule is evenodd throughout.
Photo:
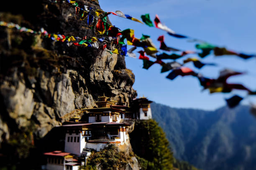
<svg viewBox="0 0 256 170"><path fill-rule="evenodd" d="M120 152L115 145L108 145L100 152L92 152L87 165L82 166L81 170L119 170L125 169L127 160L125 153Z"/></svg>

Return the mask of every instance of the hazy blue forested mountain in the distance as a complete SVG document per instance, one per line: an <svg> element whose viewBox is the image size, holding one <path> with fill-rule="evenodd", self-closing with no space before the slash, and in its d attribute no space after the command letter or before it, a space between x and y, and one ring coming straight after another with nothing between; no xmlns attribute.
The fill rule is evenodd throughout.
<svg viewBox="0 0 256 170"><path fill-rule="evenodd" d="M205 111L153 102L151 109L176 158L203 170L256 170L256 119L249 106Z"/></svg>

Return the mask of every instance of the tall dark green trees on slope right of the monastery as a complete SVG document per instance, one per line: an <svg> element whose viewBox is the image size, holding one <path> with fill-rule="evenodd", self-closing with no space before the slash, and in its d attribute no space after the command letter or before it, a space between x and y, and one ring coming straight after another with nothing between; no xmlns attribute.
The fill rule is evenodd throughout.
<svg viewBox="0 0 256 170"><path fill-rule="evenodd" d="M173 155L163 130L154 120L136 121L131 145L144 170L173 169Z"/></svg>

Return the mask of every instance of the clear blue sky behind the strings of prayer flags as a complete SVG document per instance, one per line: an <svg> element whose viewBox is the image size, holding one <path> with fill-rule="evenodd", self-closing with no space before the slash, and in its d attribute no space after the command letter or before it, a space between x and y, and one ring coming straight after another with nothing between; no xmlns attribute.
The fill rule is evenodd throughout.
<svg viewBox="0 0 256 170"><path fill-rule="evenodd" d="M149 13L153 21L159 15L161 23L177 33L205 40L213 45L227 47L237 52L256 53L256 1L255 0L99 0L100 7L105 11L121 10L134 18ZM125 30L135 30L135 37L140 38L142 33L150 35L154 44L160 47L157 37L165 36L165 43L169 47L184 50L195 50L195 42L187 42L167 35L157 28L134 22L132 20L109 15L113 25ZM128 49L132 46L128 46ZM141 50L138 48L135 52ZM177 60L182 63L188 55ZM154 58L151 58L154 61ZM171 62L172 60L164 60ZM228 82L243 83L246 87L256 90L256 58L243 60L236 56L205 57L203 62L215 62L218 67L205 66L195 68L192 63L186 66L205 77L216 78L223 68L247 72L246 75L234 76ZM246 97L246 92L234 90L231 93L209 94L202 91L199 81L195 77L177 77L174 80L166 79L166 73L160 73L161 66L153 65L148 70L142 69L142 60L131 57L125 58L126 67L135 74L133 88L138 96L144 95L155 102L171 107L200 108L213 110L225 105L225 98L238 94ZM243 104L256 103L256 96L247 96Z"/></svg>

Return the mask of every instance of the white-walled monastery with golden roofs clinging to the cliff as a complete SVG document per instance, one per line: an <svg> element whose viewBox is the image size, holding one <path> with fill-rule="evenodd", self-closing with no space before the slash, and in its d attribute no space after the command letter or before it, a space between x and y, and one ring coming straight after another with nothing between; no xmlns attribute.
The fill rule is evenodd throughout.
<svg viewBox="0 0 256 170"><path fill-rule="evenodd" d="M125 120L152 118L150 103L146 97L133 100L132 107L116 105L105 95L98 97L97 107L82 109L83 116L73 117L63 123L65 128L64 151L44 153L47 170L78 170L86 165L91 150L100 151L108 144L128 143L128 127Z"/></svg>

